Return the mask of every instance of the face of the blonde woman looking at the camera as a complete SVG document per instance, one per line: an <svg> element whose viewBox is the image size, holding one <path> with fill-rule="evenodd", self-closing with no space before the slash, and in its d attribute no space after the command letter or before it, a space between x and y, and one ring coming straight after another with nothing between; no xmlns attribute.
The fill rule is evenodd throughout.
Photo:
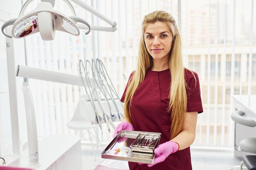
<svg viewBox="0 0 256 170"><path fill-rule="evenodd" d="M164 22L148 24L144 33L144 40L148 53L153 60L163 60L168 62L171 51L173 34L169 26Z"/></svg>

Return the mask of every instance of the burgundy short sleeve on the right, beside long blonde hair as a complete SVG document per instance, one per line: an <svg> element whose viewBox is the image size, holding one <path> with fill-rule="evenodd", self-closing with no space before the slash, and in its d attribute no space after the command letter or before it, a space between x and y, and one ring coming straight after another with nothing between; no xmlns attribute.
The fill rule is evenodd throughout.
<svg viewBox="0 0 256 170"><path fill-rule="evenodd" d="M195 77L194 77L194 75ZM185 73L187 83L187 112L203 112L202 99L200 93L200 84L198 74L190 71Z"/></svg>

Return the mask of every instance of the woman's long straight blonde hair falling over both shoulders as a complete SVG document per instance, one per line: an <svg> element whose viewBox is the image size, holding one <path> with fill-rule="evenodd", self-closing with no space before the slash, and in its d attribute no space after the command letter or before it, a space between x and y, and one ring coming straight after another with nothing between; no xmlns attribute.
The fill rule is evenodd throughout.
<svg viewBox="0 0 256 170"><path fill-rule="evenodd" d="M173 16L165 11L154 11L144 16L139 42L139 54L137 69L128 82L126 96L124 99L124 117L132 124L130 104L139 84L144 80L146 72L153 66L153 59L146 49L144 33L146 26L155 22L164 22L173 34L173 46L169 56L169 69L171 72L170 102L168 112L171 113L170 139L176 137L182 130L184 124L184 113L186 112L186 82L184 78L184 66L182 63L182 47L180 33Z"/></svg>

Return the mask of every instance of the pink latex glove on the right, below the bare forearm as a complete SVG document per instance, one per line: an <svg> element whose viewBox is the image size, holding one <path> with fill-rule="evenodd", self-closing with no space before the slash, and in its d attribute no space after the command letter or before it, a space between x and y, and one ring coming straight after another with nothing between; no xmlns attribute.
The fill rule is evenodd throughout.
<svg viewBox="0 0 256 170"><path fill-rule="evenodd" d="M157 148L155 148L155 160L154 163L148 164L148 167L154 166L157 163L163 162L170 154L176 152L178 150L178 146L173 141L167 141L163 144L160 144ZM141 165L143 163L139 163Z"/></svg>

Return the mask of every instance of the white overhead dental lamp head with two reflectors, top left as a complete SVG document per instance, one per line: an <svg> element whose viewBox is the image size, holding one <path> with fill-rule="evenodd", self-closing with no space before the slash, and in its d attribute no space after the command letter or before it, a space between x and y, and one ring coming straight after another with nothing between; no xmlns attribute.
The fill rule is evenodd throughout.
<svg viewBox="0 0 256 170"><path fill-rule="evenodd" d="M33 11L24 14L25 9L32 1L33 0L27 0L25 2L20 11L18 19L14 18L3 24L2 33L5 36L9 38L23 38L40 32L43 40L53 40L56 31L63 31L72 35L79 35L80 31L76 26L77 22L81 22L88 26L89 30L85 32L85 34L90 32L90 24L88 24L88 22L82 18L76 17L74 7L69 0L63 1L65 1L72 10L74 16L70 17L53 9L55 0L41 0ZM13 25L13 28L11 30L11 35L8 35L4 32L4 29L10 25Z"/></svg>

